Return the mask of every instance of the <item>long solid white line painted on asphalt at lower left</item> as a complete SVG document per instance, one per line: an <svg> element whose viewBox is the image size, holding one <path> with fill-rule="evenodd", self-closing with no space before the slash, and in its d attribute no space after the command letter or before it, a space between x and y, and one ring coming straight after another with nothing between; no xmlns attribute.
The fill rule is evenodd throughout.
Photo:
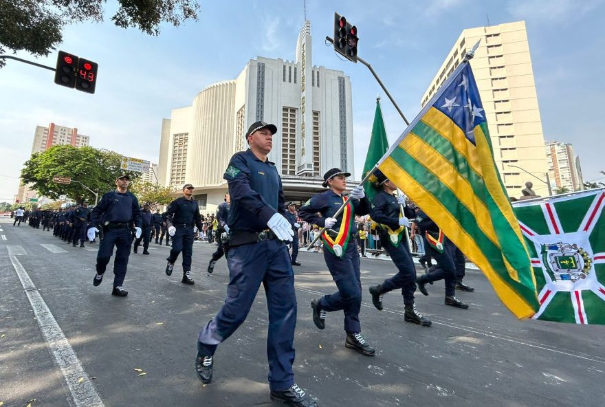
<svg viewBox="0 0 605 407"><path fill-rule="evenodd" d="M78 360L76 352L69 342L67 342L65 334L61 331L61 327L59 327L54 319L38 289L32 283L28 272L25 271L16 256L11 255L10 261L19 280L21 280L21 285L23 285L28 300L30 300L42 335L46 342L48 342L48 347L52 351L59 368L63 371L63 376L65 376L67 387L69 387L69 391L72 393L74 404L76 407L104 407L99 393L92 384L80 360ZM84 380L82 381L82 379Z"/></svg>

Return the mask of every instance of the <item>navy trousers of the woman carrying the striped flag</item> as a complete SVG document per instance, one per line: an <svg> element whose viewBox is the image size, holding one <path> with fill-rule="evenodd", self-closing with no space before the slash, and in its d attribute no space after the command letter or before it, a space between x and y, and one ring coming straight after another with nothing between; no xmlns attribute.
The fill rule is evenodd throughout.
<svg viewBox="0 0 605 407"><path fill-rule="evenodd" d="M342 259L324 249L324 259L332 275L338 292L320 298L320 308L324 311L344 312L344 330L361 332L359 313L362 307L362 282L360 278L360 260L357 245L351 239Z"/></svg>

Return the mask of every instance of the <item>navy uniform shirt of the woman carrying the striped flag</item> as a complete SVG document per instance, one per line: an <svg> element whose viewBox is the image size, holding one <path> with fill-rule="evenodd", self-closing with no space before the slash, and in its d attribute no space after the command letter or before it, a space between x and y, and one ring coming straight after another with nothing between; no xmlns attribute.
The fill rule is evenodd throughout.
<svg viewBox="0 0 605 407"><path fill-rule="evenodd" d="M332 190L327 190L318 195L314 195L314 197L311 197L305 205L301 206L298 209L298 217L323 228L325 227L326 218L334 217L334 214L342 206L342 203L344 203L344 201L342 200L341 195L336 194L336 192L333 192ZM355 214L369 214L370 201L368 201L367 197L363 197L362 199L351 199L351 203L353 204ZM317 212L320 212L321 215L318 215ZM344 211L340 212L336 218L336 224L332 226L333 230L340 230L343 213ZM351 235L356 232L357 231L353 227L349 229L349 234Z"/></svg>

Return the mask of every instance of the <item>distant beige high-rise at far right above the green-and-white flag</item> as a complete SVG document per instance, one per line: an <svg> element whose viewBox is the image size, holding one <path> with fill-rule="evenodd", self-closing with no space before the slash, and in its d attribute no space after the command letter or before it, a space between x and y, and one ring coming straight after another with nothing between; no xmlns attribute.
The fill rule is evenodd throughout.
<svg viewBox="0 0 605 407"><path fill-rule="evenodd" d="M584 188L580 157L573 154L569 143L548 142L546 156L549 161L549 178L553 192L573 192Z"/></svg>

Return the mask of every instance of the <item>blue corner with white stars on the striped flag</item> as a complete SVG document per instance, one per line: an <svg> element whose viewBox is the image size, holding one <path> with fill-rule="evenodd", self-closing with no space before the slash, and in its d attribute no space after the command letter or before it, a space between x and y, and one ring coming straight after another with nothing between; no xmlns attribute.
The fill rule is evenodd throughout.
<svg viewBox="0 0 605 407"><path fill-rule="evenodd" d="M447 115L475 144L473 129L485 122L485 111L470 65L465 64L433 107Z"/></svg>

